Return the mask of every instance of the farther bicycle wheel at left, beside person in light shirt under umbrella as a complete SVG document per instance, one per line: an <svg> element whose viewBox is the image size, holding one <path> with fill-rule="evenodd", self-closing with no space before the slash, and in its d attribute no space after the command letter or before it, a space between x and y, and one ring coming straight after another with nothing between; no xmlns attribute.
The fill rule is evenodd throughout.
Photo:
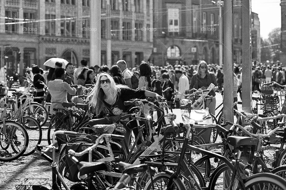
<svg viewBox="0 0 286 190"><path fill-rule="evenodd" d="M43 105L38 103L31 103L31 108L32 110L30 110L30 106L27 106L23 113L27 111L28 115L35 118L42 127L48 120L48 111Z"/></svg>

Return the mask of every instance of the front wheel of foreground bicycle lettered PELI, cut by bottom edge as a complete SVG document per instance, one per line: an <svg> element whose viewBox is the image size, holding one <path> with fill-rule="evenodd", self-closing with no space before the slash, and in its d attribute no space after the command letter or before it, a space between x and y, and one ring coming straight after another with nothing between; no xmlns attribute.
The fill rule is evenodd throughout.
<svg viewBox="0 0 286 190"><path fill-rule="evenodd" d="M169 181L168 179L170 179L170 176L171 175L167 174L166 172L157 173L153 177L153 183L156 183L156 187L158 187L158 189L163 190L165 189L165 186L168 184L168 181ZM164 184L161 184L161 188L159 188L159 184L158 184L158 182L160 181L161 183L164 181ZM186 190L186 187L184 186L183 181L179 178L173 179L173 185L174 186L172 189L174 190ZM151 179L147 182L144 190L153 190Z"/></svg>

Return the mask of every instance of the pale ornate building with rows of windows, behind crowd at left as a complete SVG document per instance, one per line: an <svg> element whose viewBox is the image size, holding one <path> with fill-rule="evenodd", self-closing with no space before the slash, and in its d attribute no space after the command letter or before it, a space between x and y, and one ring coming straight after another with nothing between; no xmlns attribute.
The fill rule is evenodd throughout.
<svg viewBox="0 0 286 190"><path fill-rule="evenodd" d="M1 0L1 66L7 65L8 75L23 76L26 67L43 67L51 57L65 58L75 66L83 58L89 61L89 37L94 30L101 31L101 60L90 66L106 64L106 39L111 39L111 64L123 58L131 67L150 57L153 0L101 0L98 29L90 28L90 1Z"/></svg>

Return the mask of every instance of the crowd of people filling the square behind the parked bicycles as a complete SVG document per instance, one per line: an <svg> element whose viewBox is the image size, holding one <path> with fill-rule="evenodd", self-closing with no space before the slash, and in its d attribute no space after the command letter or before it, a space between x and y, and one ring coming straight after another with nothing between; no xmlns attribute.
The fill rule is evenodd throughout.
<svg viewBox="0 0 286 190"><path fill-rule="evenodd" d="M161 67L142 61L139 66L135 66L134 68L128 68L124 60L119 60L109 68L106 65L88 67L88 62L83 59L80 61L80 66L78 68L74 68L72 63L66 64L66 69L62 69L62 67L62 63L57 62L55 68L50 68L49 72L46 72L47 74L43 74L45 72L36 65L32 67L31 72L33 73L33 82L35 88L37 88L36 96L43 96L43 83L46 83L51 94L50 101L53 104L59 105L59 102L64 100L71 102L72 96L75 94L82 94L83 89L80 87L75 90L70 86L68 87L68 85L77 84L84 86L86 84L93 84L97 86L97 88L102 88L101 85L105 84L111 85L113 88L113 91L110 91L113 93L113 97L115 97L116 94L116 88L114 86L116 85L120 88L139 90L138 92L140 92L140 90L142 90L141 92L153 92L155 93L153 94L154 96L163 96L167 101L172 101L174 98L172 93L175 91L179 92L179 98L184 99L183 94L185 94L186 90L192 88L204 90L213 83L215 88L209 92L209 95L212 95L213 98L212 100L207 100L209 102L207 102L206 105L208 105L211 113L215 113L215 90L223 89L223 68L215 64L208 64L203 60L199 61L198 65L167 64L166 66ZM104 75L102 75L102 73L104 73ZM105 82L103 80L101 81L101 77L103 76L104 78L106 77L106 79L104 79ZM233 81L234 101L237 101L238 94L240 94L241 97L242 93L242 68L239 64L234 64ZM282 64L279 61L275 64L270 64L268 62L265 64L253 62L253 90L260 91L261 84L270 81L285 84L285 67L282 67ZM65 93L59 95L57 94L58 92L54 92L54 90L59 91L59 89L65 91L67 94L66 99L65 97L59 97L65 96ZM97 94L98 97L102 96L102 92L98 91L96 93L100 93L100 95ZM117 93L119 93L118 89ZM105 98L102 100L106 103L105 107L111 108L112 106L110 105L113 104L109 103L113 102L110 102L111 100L108 99L108 97L109 96L105 94ZM112 99L112 101L114 101L114 99ZM94 105L96 104L97 102L94 100ZM124 108L120 110L125 111ZM111 111L113 112L114 110ZM99 113L96 112L95 115L98 116Z"/></svg>

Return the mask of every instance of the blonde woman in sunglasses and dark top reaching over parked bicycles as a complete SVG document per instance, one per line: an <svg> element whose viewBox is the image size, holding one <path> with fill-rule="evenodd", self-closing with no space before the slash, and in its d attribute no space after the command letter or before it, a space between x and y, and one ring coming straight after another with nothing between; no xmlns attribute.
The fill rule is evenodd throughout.
<svg viewBox="0 0 286 190"><path fill-rule="evenodd" d="M116 85L108 73L102 72L87 99L90 100L90 106L95 107L93 118L103 118L106 114L124 115L130 109L130 106L124 105L124 101L135 98L144 99L146 96L157 97L159 95L147 90L134 90L125 85ZM129 143L130 134L131 130L126 130L127 143Z"/></svg>

